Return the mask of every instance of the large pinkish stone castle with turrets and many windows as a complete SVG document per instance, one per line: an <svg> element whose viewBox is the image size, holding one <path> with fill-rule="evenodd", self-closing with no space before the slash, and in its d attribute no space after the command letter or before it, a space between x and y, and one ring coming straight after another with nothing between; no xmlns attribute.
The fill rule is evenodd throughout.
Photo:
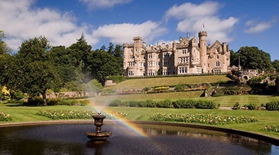
<svg viewBox="0 0 279 155"><path fill-rule="evenodd" d="M227 73L230 67L228 45L218 40L207 45L206 37L207 32L201 31L198 40L179 37L179 42L156 46L146 46L141 37L133 37L133 44L123 44L126 76Z"/></svg>

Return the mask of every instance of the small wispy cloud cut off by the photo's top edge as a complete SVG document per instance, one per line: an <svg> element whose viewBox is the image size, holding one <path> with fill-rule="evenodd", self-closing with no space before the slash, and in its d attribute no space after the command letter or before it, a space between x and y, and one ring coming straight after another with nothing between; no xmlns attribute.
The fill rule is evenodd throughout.
<svg viewBox="0 0 279 155"><path fill-rule="evenodd" d="M131 0L79 0L86 4L89 9L94 8L112 8L119 4L129 3Z"/></svg>

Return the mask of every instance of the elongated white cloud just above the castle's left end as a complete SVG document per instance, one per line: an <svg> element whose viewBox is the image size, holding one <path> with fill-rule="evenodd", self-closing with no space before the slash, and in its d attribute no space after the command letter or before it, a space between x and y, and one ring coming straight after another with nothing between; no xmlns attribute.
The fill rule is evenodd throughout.
<svg viewBox="0 0 279 155"><path fill-rule="evenodd" d="M158 23L148 20L141 24L122 23L103 25L94 30L92 35L107 38L115 44L123 44L124 42L132 42L135 36L141 36L145 42L151 42L155 37L162 35L166 31Z"/></svg>

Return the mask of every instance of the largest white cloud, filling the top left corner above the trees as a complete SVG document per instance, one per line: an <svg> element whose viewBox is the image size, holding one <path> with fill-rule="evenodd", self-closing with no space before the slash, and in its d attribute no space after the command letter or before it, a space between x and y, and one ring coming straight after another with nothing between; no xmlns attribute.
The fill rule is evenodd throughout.
<svg viewBox="0 0 279 155"><path fill-rule="evenodd" d="M32 0L4 0L0 4L0 27L4 30L4 40L13 51L33 37L44 35L52 46L69 46L84 33L88 44L96 39L88 35L87 25L78 26L69 13L61 13L49 8L32 8Z"/></svg>

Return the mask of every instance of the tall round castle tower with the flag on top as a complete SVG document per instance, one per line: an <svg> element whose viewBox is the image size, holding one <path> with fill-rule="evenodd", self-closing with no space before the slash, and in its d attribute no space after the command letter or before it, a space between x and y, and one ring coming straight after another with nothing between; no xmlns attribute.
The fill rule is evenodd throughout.
<svg viewBox="0 0 279 155"><path fill-rule="evenodd" d="M203 73L206 73L207 70L207 62L206 62L206 52L207 52L207 46L206 46L206 37L208 36L206 31L198 32L198 38L199 38L199 47L200 47L200 56L201 56L201 66L203 68Z"/></svg>

